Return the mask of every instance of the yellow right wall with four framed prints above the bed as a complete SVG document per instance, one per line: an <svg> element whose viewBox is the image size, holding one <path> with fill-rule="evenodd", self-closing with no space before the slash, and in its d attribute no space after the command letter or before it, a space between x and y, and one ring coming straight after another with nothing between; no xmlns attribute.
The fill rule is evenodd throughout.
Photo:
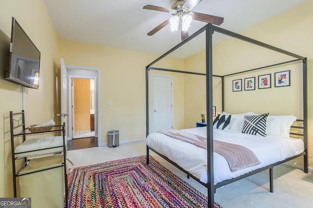
<svg viewBox="0 0 313 208"><path fill-rule="evenodd" d="M309 26L313 22L312 8L313 1L306 1L242 33L249 38L308 57L309 157L313 155L313 85L311 82L313 79L313 28ZM196 58L190 57L185 60L185 68L203 67L205 59L202 53L203 52L197 54L197 56L202 57L201 62L193 62ZM287 57L286 55L281 55L247 42L228 38L213 46L213 74L225 75L294 59L287 59ZM230 113L247 111L254 111L256 113L269 112L271 115L293 114L297 116L298 119L302 119L303 93L301 69L301 63L291 63L225 78L225 111ZM274 87L274 72L284 70L291 70L291 86ZM232 92L232 80L244 80L249 77L256 77L257 79L259 75L268 73L271 73L272 77L272 87L270 89L257 89L258 87L256 86L256 90ZM189 83L196 83L196 81L187 79L186 77L185 92L199 91L199 84L193 85ZM189 84L189 86L187 87L186 84ZM203 86L202 84L202 88ZM192 110L191 106L197 106L199 102L205 102L205 97L202 101L198 99L188 99L187 93L188 92L185 93L185 106L188 107L187 110L185 110L185 125L194 123L194 115L199 114L199 110ZM203 92L199 93L204 94ZM219 96L219 93L220 91L214 91L213 98L213 104L217 105L217 112L221 112L221 103L216 103L215 99ZM198 120L200 120L200 118ZM302 163L300 160L296 162ZM309 164L313 166L312 158L309 159Z"/></svg>

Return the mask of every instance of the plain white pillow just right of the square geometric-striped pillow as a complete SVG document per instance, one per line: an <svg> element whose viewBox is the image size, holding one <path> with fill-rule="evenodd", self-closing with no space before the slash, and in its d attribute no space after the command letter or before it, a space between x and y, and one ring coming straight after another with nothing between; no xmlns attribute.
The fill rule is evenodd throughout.
<svg viewBox="0 0 313 208"><path fill-rule="evenodd" d="M268 116L266 134L289 138L290 126L296 119L292 115Z"/></svg>

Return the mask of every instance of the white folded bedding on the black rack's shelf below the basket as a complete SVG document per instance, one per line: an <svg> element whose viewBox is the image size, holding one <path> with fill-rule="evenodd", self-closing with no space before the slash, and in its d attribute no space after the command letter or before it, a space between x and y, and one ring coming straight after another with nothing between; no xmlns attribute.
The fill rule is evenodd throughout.
<svg viewBox="0 0 313 208"><path fill-rule="evenodd" d="M57 147L61 146L61 147ZM56 147L51 149L44 149L44 148L50 148L50 147ZM40 150L44 149L44 150ZM31 152L25 152L25 151L31 151ZM45 137L45 138L34 138L34 139L28 139L25 140L21 145L18 145L15 147L15 154L16 158L22 158L22 157L30 157L35 155L44 155L44 154L50 154L50 153L56 153L56 152L62 152L63 151L63 137L62 136L54 136L54 137ZM25 152L25 153L20 153Z"/></svg>

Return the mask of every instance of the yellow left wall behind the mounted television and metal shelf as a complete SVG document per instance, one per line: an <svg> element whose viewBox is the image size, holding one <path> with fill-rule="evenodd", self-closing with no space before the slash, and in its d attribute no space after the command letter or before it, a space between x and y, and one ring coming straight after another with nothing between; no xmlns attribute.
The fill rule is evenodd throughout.
<svg viewBox="0 0 313 208"><path fill-rule="evenodd" d="M57 54L57 34L44 0L2 0L0 30L11 37L15 17L41 52L39 89L25 89L26 125L53 118L53 63ZM22 88L2 79L0 72L0 197L13 196L9 111L22 110ZM34 206L35 207L35 206Z"/></svg>

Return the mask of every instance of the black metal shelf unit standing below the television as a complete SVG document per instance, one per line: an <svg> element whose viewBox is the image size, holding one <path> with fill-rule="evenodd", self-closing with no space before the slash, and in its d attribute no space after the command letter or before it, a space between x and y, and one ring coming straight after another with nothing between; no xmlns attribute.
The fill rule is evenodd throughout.
<svg viewBox="0 0 313 208"><path fill-rule="evenodd" d="M18 119L16 119L18 118ZM49 131L44 132L36 132L32 133L25 127L25 112L22 110L22 112L19 113L13 113L10 111L10 130L11 130L11 152L12 152L12 167L13 167L13 188L14 188L14 197L17 197L17 188L16 188L16 178L22 175L32 174L36 172L41 172L44 170L49 170L57 167L63 167L64 171L64 187L65 187L65 201L66 201L66 207L68 205L68 189L67 189L67 163L66 163L66 152L67 152L67 143L65 140L65 124L63 125L55 125L52 127ZM18 131L19 133L14 133L15 131ZM22 137L22 142L25 142L26 136L33 136L33 135L42 135L42 134L53 134L53 133L62 133L63 138L63 145L62 146L54 146L54 147L48 147L48 148L41 148L41 149L35 149L30 151L23 151L19 153L15 153L15 139ZM63 147L62 151L56 151L53 153L46 153L46 154L36 154L32 156L27 157L17 157L17 154L22 153L28 153L28 152L36 152L40 150L46 150L46 149L53 149L53 148L60 148ZM59 164L53 164L50 166L45 166L42 168L36 168L32 170L23 171L23 169L29 164L29 162L33 159L37 158L46 158L46 157L52 157L52 156L63 156L62 163ZM16 160L23 159L23 164L20 167L18 171L16 168Z"/></svg>

